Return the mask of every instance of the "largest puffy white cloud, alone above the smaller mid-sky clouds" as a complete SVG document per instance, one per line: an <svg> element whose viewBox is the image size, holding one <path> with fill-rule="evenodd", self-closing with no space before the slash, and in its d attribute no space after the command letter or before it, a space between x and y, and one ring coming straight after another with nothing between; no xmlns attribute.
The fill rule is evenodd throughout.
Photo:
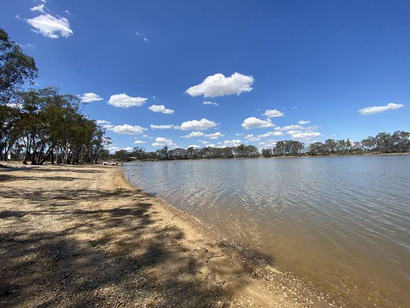
<svg viewBox="0 0 410 308"><path fill-rule="evenodd" d="M208 76L199 85L190 87L185 91L192 97L203 95L204 98L215 98L223 95L237 94L249 92L253 88L254 83L252 76L233 73L230 77L225 77L223 74L215 74Z"/></svg>

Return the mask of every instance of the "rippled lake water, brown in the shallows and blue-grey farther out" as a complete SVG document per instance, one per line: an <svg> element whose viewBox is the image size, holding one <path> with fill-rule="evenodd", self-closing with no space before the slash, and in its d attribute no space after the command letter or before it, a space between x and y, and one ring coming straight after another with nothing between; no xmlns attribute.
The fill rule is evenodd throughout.
<svg viewBox="0 0 410 308"><path fill-rule="evenodd" d="M410 156L128 163L131 182L360 306L410 306Z"/></svg>

